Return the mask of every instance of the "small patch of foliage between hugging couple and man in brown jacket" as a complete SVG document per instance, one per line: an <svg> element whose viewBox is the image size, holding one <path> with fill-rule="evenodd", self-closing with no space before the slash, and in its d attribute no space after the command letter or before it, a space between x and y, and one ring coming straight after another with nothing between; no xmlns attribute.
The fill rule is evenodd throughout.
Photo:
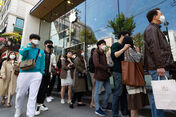
<svg viewBox="0 0 176 117"><path fill-rule="evenodd" d="M144 34L137 33L133 36L133 43L139 48L140 52L144 51Z"/></svg>

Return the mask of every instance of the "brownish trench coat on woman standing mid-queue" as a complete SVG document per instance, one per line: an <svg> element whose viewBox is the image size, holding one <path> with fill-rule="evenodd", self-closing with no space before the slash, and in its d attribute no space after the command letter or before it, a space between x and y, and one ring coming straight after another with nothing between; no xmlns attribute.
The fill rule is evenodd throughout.
<svg viewBox="0 0 176 117"><path fill-rule="evenodd" d="M76 57L74 61L75 70L73 78L73 90L74 92L86 92L86 78L78 78L78 73L86 70L85 62L81 61L79 57Z"/></svg>

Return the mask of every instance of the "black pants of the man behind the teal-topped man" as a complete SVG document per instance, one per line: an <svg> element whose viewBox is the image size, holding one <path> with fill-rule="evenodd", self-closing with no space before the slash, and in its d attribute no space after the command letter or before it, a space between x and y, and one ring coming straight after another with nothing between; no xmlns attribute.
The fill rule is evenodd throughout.
<svg viewBox="0 0 176 117"><path fill-rule="evenodd" d="M37 95L37 103L39 104L43 104L45 101L49 81L50 81L50 74L44 74L40 85L40 89Z"/></svg>

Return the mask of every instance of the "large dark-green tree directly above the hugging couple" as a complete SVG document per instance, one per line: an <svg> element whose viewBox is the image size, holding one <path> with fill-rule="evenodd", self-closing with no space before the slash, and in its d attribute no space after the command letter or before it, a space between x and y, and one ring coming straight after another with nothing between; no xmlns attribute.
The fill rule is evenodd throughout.
<svg viewBox="0 0 176 117"><path fill-rule="evenodd" d="M124 13L120 14L120 27L119 27L119 17L116 16L113 20L108 22L108 27L113 29L113 34L115 38L118 39L118 35L120 31L128 31L130 35L132 35L136 23L133 20L133 16L125 17Z"/></svg>

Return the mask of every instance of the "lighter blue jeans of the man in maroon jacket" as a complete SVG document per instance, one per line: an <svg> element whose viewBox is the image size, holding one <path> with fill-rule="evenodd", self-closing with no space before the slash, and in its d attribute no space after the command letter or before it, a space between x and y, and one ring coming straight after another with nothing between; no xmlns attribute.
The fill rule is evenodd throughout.
<svg viewBox="0 0 176 117"><path fill-rule="evenodd" d="M95 108L98 110L100 108L99 104L99 95L101 93L102 86L105 88L105 94L103 96L103 108L107 108L108 106L108 100L111 95L111 86L109 79L106 81L98 81L96 80L95 85L95 93L94 93L94 101L95 101Z"/></svg>

